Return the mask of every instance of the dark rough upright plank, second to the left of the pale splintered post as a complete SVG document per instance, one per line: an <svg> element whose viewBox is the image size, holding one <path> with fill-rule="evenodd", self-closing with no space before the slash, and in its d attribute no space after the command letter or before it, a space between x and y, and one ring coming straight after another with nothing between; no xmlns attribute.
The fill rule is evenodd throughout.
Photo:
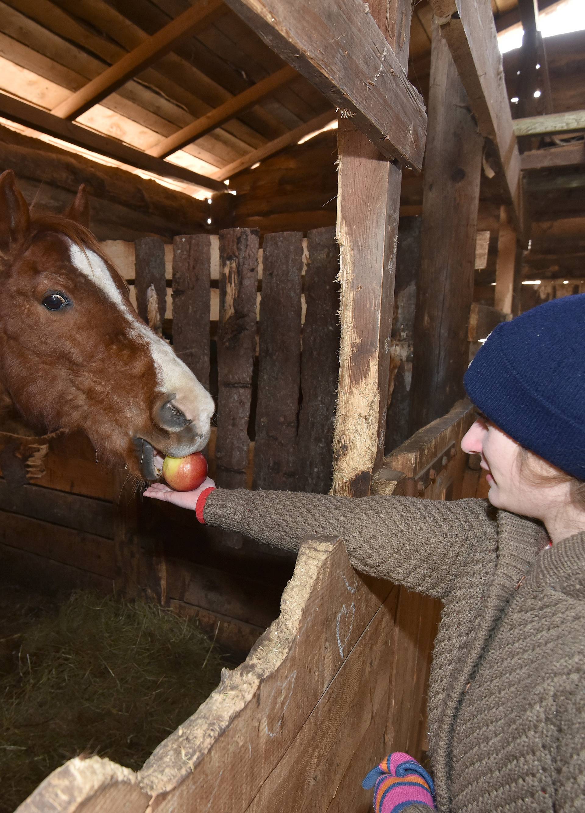
<svg viewBox="0 0 585 813"><path fill-rule="evenodd" d="M267 234L262 253L254 489L293 490L301 379L301 232Z"/></svg>

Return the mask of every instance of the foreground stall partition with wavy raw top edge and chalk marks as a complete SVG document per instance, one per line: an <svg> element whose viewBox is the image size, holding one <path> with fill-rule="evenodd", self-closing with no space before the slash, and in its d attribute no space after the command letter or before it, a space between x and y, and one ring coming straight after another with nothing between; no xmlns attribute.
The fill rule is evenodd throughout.
<svg viewBox="0 0 585 813"><path fill-rule="evenodd" d="M73 759L18 813L366 813L361 780L385 753L397 594L354 572L342 541L307 539L279 617L140 772Z"/></svg>

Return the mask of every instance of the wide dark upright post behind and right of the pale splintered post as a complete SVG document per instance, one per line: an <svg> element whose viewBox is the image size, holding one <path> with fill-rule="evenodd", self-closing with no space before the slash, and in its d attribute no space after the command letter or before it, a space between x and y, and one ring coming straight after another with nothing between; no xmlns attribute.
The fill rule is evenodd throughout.
<svg viewBox="0 0 585 813"><path fill-rule="evenodd" d="M482 150L466 91L434 22L411 433L448 412L464 392Z"/></svg>

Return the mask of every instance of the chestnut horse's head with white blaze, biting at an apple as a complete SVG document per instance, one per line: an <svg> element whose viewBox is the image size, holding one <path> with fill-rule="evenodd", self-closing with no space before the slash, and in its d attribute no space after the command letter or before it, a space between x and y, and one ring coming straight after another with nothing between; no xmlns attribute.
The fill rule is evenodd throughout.
<svg viewBox="0 0 585 813"><path fill-rule="evenodd" d="M32 215L0 176L0 382L32 425L81 429L154 480L154 450L206 446L214 402L133 310L88 211L80 187L65 215Z"/></svg>

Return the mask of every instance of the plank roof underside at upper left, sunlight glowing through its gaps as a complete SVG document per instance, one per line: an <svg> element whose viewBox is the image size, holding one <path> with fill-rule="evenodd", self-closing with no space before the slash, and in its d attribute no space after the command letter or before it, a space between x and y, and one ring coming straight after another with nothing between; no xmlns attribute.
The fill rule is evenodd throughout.
<svg viewBox="0 0 585 813"><path fill-rule="evenodd" d="M492 0L499 28L518 22L517 5ZM410 44L414 84L429 59L431 18L426 0L419 2ZM331 102L220 0L0 0L0 19L0 91L216 181L335 115ZM189 36L172 40L174 20L190 23ZM166 32L171 50L141 63L139 51ZM132 64L141 68L132 72ZM120 86L104 93L116 70Z"/></svg>

